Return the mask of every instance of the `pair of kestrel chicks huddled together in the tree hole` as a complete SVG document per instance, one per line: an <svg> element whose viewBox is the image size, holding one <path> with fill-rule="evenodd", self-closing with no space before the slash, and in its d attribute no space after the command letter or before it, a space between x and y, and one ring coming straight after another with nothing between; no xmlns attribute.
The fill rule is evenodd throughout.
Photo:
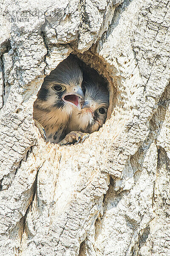
<svg viewBox="0 0 170 256"><path fill-rule="evenodd" d="M77 58L69 55L44 79L34 103L35 125L52 143L83 142L102 127L108 106L103 80L90 69L82 72Z"/></svg>

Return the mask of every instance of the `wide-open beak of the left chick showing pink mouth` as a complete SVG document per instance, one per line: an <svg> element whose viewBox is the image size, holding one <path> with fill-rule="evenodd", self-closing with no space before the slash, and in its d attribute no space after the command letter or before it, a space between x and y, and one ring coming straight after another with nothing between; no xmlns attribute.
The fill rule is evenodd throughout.
<svg viewBox="0 0 170 256"><path fill-rule="evenodd" d="M79 87L77 91L67 93L62 97L62 100L64 102L67 102L75 107L77 107L79 110L81 109L80 105L80 98L82 99L84 97L84 93L82 89Z"/></svg>

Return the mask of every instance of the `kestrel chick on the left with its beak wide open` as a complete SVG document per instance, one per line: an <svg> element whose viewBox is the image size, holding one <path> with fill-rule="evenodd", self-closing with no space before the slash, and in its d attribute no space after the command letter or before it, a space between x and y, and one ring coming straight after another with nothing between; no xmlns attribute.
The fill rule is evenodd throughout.
<svg viewBox="0 0 170 256"><path fill-rule="evenodd" d="M47 140L58 143L65 137L73 111L81 109L82 79L82 71L73 55L45 77L34 103L34 119L41 134L45 129Z"/></svg>

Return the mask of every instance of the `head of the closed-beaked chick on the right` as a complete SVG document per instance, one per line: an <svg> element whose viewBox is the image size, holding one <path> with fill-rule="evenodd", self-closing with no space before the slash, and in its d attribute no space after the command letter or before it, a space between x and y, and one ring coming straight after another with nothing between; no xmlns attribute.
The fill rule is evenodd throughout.
<svg viewBox="0 0 170 256"><path fill-rule="evenodd" d="M94 81L83 81L85 93L81 113L88 119L88 126L91 132L98 131L102 127L107 117L109 107L108 90Z"/></svg>

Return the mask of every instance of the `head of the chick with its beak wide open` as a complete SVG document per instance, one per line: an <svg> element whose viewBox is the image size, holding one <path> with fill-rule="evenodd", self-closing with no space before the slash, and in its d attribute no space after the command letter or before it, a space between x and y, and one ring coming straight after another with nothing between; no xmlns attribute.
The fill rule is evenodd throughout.
<svg viewBox="0 0 170 256"><path fill-rule="evenodd" d="M82 88L82 71L74 56L59 63L57 68L46 76L37 96L42 108L71 113L74 108L81 109L84 97ZM40 103L40 104L39 104Z"/></svg>

